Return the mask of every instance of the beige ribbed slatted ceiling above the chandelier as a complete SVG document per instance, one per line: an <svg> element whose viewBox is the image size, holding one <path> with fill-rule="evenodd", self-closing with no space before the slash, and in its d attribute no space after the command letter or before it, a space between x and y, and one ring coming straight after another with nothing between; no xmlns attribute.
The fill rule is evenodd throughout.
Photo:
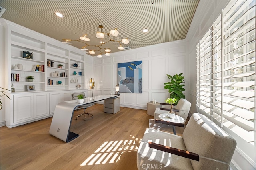
<svg viewBox="0 0 256 170"><path fill-rule="evenodd" d="M112 40L128 38L130 43L121 45L131 49L171 42L186 38L188 28L196 11L199 0L1 0L0 6L6 11L2 18L15 22L56 40L78 40L87 34L89 42L74 41L71 45L81 49L88 45L100 45L95 34L118 28L119 35ZM64 17L57 17L61 12ZM149 31L143 33L147 28ZM108 36L103 38L104 42ZM83 43L84 42L84 43ZM120 51L118 42L110 41L101 46L111 52ZM89 50L99 50L89 46ZM88 51L89 51L88 50ZM87 51L85 51L87 53ZM88 53L89 54L89 53Z"/></svg>

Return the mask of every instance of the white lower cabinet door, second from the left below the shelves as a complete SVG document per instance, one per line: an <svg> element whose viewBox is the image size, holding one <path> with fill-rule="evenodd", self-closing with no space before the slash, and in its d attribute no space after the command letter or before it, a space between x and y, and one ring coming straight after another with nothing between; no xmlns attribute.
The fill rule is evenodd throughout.
<svg viewBox="0 0 256 170"><path fill-rule="evenodd" d="M49 93L34 93L34 117L49 115Z"/></svg>

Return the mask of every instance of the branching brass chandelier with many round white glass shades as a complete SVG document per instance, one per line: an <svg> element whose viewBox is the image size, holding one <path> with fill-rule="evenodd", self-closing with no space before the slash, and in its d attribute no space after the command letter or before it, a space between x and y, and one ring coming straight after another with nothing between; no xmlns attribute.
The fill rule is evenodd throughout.
<svg viewBox="0 0 256 170"><path fill-rule="evenodd" d="M87 51L88 49L87 49L87 47L88 46L93 46L93 47L98 47L99 49L98 50L90 50L90 51L88 51L90 54L95 54L95 51L99 51L100 52L100 54L97 56L98 58L101 58L102 57L102 54L105 54L106 56L110 56L110 48L102 48L102 45L104 45L104 44L106 44L106 43L108 43L108 42L110 42L110 41L112 41L112 42L118 42L119 43L119 47L118 47L118 49L119 50L124 50L124 47L122 47L122 45L121 45L121 43L120 42L122 42L123 44L128 44L129 43L129 40L128 40L128 38L124 38L124 39L122 39L121 41L116 41L116 40L113 40L113 39L111 39L110 38L110 34L112 35L112 36L118 36L118 34L119 34L119 32L118 32L118 30L117 30L117 28L115 28L114 30L111 30L110 31L110 33L104 33L104 32L102 32L102 28L103 28L103 26L102 25L99 25L98 26L99 28L100 28L100 32L97 32L96 33L96 37L97 38L100 38L101 39L101 44L100 45L89 45L88 43L85 43L84 41L90 41L90 39L89 38L87 38L86 36L87 36L87 34L84 34L83 36L81 36L80 37L80 39L78 39L78 40L71 40L71 39L62 39L64 42L62 42L62 43L67 43L67 44L71 44L71 41L78 41L78 42L82 42L82 43L85 43L86 44L86 46L84 46L84 47L82 47L82 51ZM105 37L105 35L107 35L108 37L109 37L109 39L110 40L108 40L107 42L103 42L103 38ZM81 41L82 40L82 41ZM102 52L102 50L104 50L104 52Z"/></svg>

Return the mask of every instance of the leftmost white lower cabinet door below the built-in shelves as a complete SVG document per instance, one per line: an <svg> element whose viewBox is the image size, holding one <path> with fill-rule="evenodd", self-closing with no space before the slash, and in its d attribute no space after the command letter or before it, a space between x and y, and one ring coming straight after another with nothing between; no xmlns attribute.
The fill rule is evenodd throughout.
<svg viewBox="0 0 256 170"><path fill-rule="evenodd" d="M13 105L14 123L20 123L34 118L33 93L14 95Z"/></svg>

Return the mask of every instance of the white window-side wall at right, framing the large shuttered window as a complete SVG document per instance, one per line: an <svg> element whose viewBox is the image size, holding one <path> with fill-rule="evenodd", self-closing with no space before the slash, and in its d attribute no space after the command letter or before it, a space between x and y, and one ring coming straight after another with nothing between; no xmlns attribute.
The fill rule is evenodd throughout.
<svg viewBox="0 0 256 170"><path fill-rule="evenodd" d="M228 1L226 0L200 1L186 36L188 48L186 60L189 61L187 97L192 103L190 113L196 112L196 45L210 26L212 26L214 20L216 20L227 3ZM239 146L238 143L231 161L231 169L249 170L256 168L255 160L250 159L243 150L246 150L246 148Z"/></svg>

